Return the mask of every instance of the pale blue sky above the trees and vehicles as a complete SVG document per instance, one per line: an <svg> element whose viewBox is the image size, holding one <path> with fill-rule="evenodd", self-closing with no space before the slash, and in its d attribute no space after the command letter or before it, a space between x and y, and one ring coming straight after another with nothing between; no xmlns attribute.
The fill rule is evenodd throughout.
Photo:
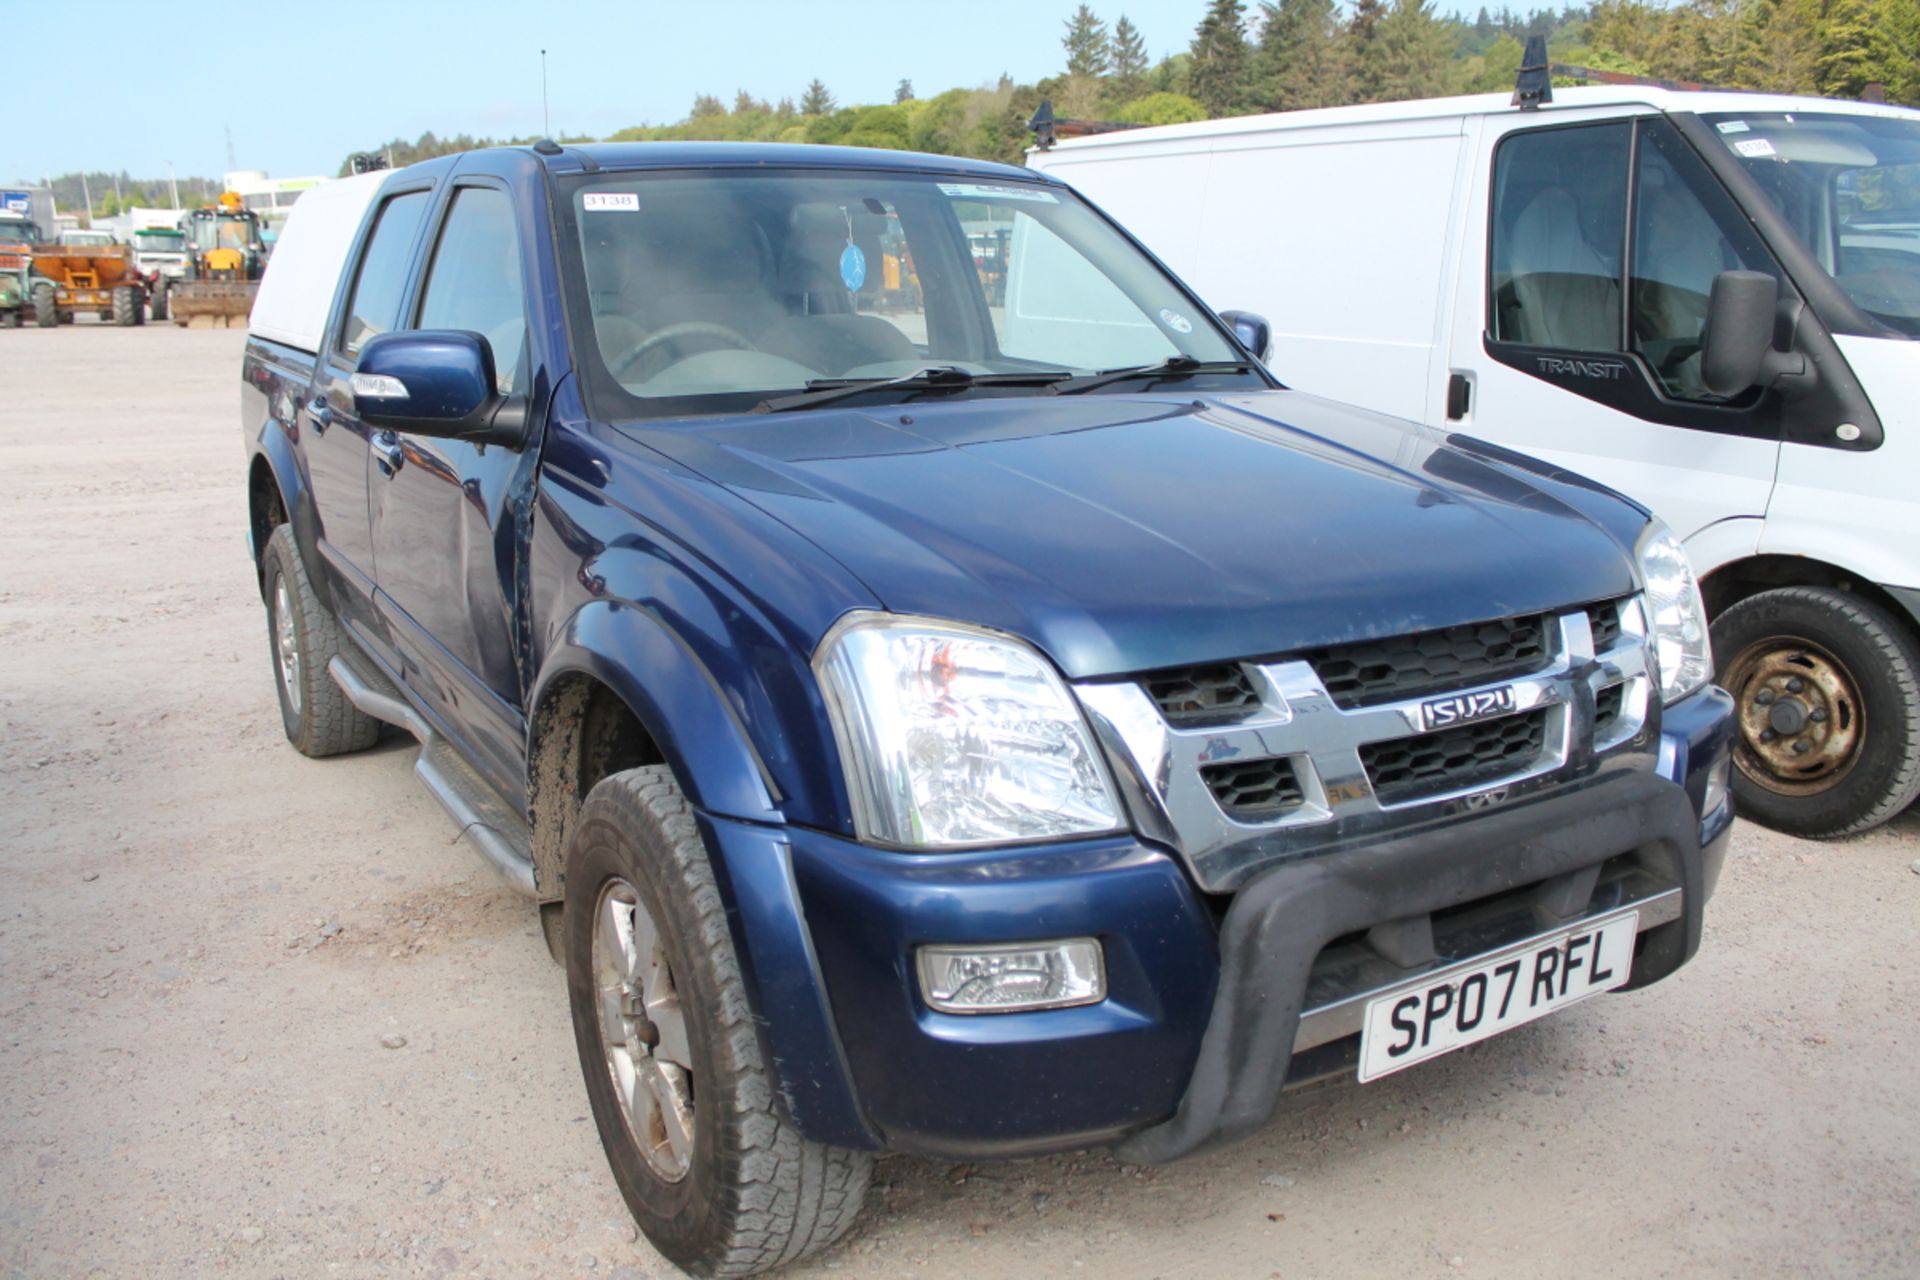
<svg viewBox="0 0 1920 1280"><path fill-rule="evenodd" d="M273 177L332 175L349 152L426 130L536 134L541 48L555 134L672 123L695 94L799 100L814 77L843 106L891 102L902 79L924 96L1002 71L1031 83L1064 69L1060 35L1075 4L90 0L58 19L63 6L50 0L0 0L0 31L84 12L90 31L132 44L111 75L77 75L67 58L13 59L8 96L35 113L0 142L0 178L83 169L159 178L169 161L180 177L219 177L228 129L232 167ZM1091 4L1108 25L1125 13L1156 61L1187 48L1206 10L1206 0Z"/></svg>

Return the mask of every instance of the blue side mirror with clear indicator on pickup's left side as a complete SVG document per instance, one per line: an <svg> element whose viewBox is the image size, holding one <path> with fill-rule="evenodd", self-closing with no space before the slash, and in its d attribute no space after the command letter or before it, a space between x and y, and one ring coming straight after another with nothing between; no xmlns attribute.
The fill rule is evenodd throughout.
<svg viewBox="0 0 1920 1280"><path fill-rule="evenodd" d="M380 334L361 347L353 413L369 426L518 445L522 415L493 391L493 349L480 334L420 328Z"/></svg>

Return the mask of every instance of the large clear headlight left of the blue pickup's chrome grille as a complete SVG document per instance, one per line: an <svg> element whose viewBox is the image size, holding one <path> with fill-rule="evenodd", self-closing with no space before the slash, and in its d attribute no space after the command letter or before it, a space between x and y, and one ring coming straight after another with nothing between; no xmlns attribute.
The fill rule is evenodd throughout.
<svg viewBox="0 0 1920 1280"><path fill-rule="evenodd" d="M964 848L1121 827L1073 695L1027 645L954 622L852 614L814 656L854 827Z"/></svg>

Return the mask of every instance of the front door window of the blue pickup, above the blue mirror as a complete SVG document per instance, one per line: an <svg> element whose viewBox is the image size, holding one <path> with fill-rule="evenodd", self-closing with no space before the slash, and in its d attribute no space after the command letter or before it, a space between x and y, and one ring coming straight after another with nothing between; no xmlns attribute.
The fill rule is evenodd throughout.
<svg viewBox="0 0 1920 1280"><path fill-rule="evenodd" d="M486 338L499 393L513 393L526 345L526 286L505 192L463 186L453 194L417 328L461 328Z"/></svg>

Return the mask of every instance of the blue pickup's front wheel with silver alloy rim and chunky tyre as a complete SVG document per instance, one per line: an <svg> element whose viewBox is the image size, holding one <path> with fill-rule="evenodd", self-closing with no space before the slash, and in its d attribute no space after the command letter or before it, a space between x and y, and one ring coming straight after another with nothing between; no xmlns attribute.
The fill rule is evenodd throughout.
<svg viewBox="0 0 1920 1280"><path fill-rule="evenodd" d="M693 808L666 768L588 796L561 921L593 1123L647 1240L697 1276L756 1274L837 1240L872 1155L808 1142L785 1117Z"/></svg>

